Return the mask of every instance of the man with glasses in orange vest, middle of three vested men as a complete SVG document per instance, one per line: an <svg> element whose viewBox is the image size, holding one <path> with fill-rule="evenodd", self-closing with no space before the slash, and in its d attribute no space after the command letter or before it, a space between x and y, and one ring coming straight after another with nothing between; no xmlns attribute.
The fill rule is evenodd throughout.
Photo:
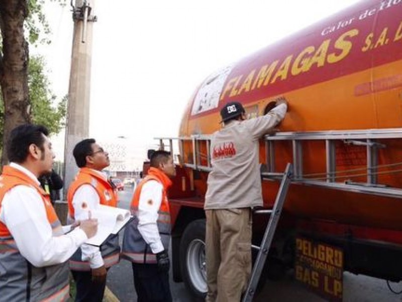
<svg viewBox="0 0 402 302"><path fill-rule="evenodd" d="M116 207L117 192L102 172L110 165L108 153L93 138L78 142L73 156L80 171L68 193L68 218L72 221L88 215L99 204ZM83 245L70 259L75 280L75 301L102 301L107 269L120 260L118 235L111 235L100 247Z"/></svg>

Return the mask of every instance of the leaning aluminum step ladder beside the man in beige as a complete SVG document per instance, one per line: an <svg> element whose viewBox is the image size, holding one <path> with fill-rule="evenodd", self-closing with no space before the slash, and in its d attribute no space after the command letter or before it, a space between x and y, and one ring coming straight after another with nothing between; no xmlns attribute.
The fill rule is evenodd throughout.
<svg viewBox="0 0 402 302"><path fill-rule="evenodd" d="M265 229L265 234L262 239L261 246L259 247L257 259L254 263L247 290L244 293L243 302L251 302L253 300L262 269L264 268L265 260L268 256L273 236L275 235L276 226L282 212L283 203L285 201L287 190L291 182L292 173L292 164L287 164L286 170L283 173L282 181L280 183L273 208L269 210L263 209L254 211L255 214L270 214L270 217Z"/></svg>

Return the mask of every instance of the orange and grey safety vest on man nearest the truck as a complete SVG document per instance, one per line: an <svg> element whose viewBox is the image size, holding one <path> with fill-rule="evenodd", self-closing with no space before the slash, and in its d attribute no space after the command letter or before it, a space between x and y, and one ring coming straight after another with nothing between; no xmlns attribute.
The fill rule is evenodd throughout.
<svg viewBox="0 0 402 302"><path fill-rule="evenodd" d="M169 248L170 241L170 207L167 198L167 189L171 186L171 180L159 169L149 168L148 175L137 186L131 201L131 212L133 221L130 222L124 231L122 257L135 263L156 263L156 256L152 253L149 245L142 238L138 231L138 203L143 185L150 180L156 180L163 186L162 201L158 210L158 231L164 249Z"/></svg>

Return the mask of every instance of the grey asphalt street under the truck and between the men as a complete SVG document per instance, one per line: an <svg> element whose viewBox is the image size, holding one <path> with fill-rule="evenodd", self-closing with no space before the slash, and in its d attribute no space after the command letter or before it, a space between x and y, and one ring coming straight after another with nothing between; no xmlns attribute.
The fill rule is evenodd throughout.
<svg viewBox="0 0 402 302"><path fill-rule="evenodd" d="M119 192L119 207L129 208L133 189L125 187ZM402 301L402 294L392 293L385 280L371 278L363 275L353 275L345 272L343 275L343 301L345 302L378 302ZM195 299L189 294L183 283L175 283L170 280L173 301L192 302ZM107 286L114 295L122 302L136 301L137 295L134 289L131 263L121 260L113 266L108 273ZM402 283L391 283L395 291L402 290ZM291 272L280 281L267 281L261 293L254 299L256 302L286 301L286 302L321 302L325 301L294 281Z"/></svg>

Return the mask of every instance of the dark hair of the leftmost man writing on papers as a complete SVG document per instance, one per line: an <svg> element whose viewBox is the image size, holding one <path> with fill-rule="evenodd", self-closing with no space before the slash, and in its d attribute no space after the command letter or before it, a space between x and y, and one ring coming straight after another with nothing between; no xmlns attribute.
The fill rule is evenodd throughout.
<svg viewBox="0 0 402 302"><path fill-rule="evenodd" d="M31 144L37 145L43 152L45 138L42 134L49 135L47 128L42 125L23 124L11 130L6 144L9 161L17 164L23 163L28 157Z"/></svg>

